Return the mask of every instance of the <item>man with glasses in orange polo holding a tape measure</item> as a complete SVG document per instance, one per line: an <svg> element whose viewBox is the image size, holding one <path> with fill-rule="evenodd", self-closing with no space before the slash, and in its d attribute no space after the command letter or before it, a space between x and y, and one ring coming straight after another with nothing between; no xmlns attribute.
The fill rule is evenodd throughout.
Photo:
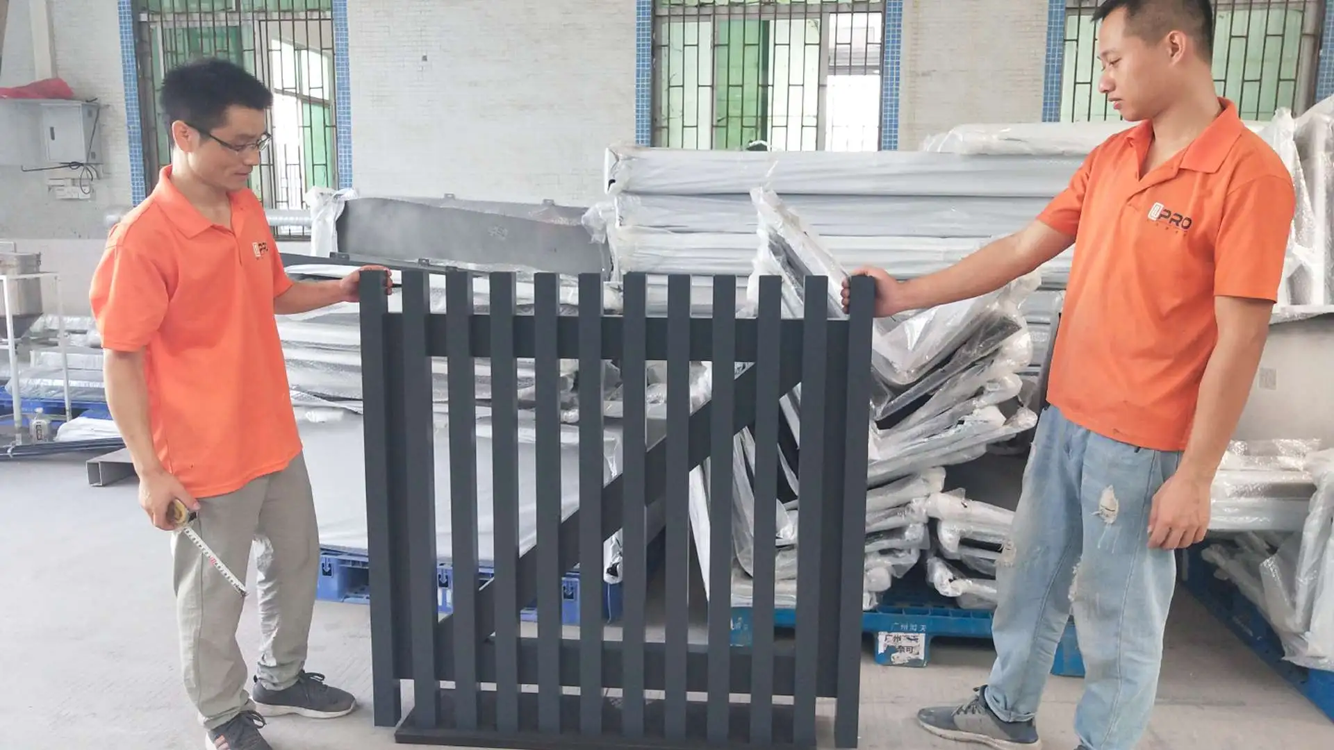
<svg viewBox="0 0 1334 750"><path fill-rule="evenodd" d="M304 671L319 532L275 314L358 299L359 271L293 283L248 188L268 143L269 91L221 60L167 73L172 163L111 232L92 280L107 402L139 474L139 502L173 528L180 500L221 562L245 574L260 543L263 647L255 683L236 643L241 597L172 536L181 670L205 747L269 750L263 715L334 718L351 694Z"/></svg>

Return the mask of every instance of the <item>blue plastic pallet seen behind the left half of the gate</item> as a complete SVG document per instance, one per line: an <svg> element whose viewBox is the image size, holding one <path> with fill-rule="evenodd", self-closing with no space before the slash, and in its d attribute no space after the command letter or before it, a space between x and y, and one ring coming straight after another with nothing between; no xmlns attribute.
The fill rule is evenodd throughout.
<svg viewBox="0 0 1334 750"><path fill-rule="evenodd" d="M482 566L479 575L490 579L492 570ZM439 586L440 614L454 611L454 567L438 563L436 585ZM560 621L566 625L579 625L580 602L579 574L566 574L560 581ZM366 555L340 550L320 550L320 579L315 598L325 602L351 602L364 605L371 601L371 563ZM602 614L606 622L620 619L622 590L619 583L602 585ZM520 613L520 619L538 621L536 607Z"/></svg>

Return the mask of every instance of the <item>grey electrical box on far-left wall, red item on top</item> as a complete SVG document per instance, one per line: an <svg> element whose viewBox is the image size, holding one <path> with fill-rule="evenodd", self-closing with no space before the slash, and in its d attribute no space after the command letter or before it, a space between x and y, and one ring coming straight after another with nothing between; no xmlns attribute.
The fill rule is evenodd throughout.
<svg viewBox="0 0 1334 750"><path fill-rule="evenodd" d="M88 101L0 99L0 165L101 164L100 107Z"/></svg>

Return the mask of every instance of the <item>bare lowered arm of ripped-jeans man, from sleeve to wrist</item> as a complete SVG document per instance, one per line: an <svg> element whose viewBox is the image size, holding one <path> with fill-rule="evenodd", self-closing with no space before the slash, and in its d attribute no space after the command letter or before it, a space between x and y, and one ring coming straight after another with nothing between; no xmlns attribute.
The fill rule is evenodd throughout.
<svg viewBox="0 0 1334 750"><path fill-rule="evenodd" d="M1218 344L1199 382L1195 419L1178 472L1213 483L1250 396L1273 308L1266 299L1215 299Z"/></svg>

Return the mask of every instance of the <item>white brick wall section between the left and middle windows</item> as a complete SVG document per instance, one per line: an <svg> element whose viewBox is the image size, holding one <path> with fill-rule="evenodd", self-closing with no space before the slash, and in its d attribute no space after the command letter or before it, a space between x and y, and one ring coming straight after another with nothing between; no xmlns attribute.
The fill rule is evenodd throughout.
<svg viewBox="0 0 1334 750"><path fill-rule="evenodd" d="M587 204L635 137L632 0L348 5L363 195Z"/></svg>

